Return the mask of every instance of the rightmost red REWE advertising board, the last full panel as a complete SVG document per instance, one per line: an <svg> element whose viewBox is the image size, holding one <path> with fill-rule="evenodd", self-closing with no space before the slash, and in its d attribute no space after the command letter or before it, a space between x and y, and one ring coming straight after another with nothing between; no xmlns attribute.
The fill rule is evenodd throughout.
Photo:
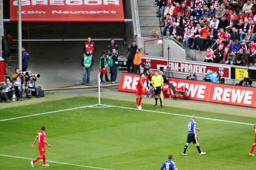
<svg viewBox="0 0 256 170"><path fill-rule="evenodd" d="M256 89L252 87L211 84L209 102L255 107Z"/></svg>

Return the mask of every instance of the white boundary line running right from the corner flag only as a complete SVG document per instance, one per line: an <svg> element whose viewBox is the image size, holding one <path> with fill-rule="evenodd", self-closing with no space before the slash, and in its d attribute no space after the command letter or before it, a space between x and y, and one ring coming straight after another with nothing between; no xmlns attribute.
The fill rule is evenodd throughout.
<svg viewBox="0 0 256 170"><path fill-rule="evenodd" d="M106 106L106 105L105 105ZM131 107L122 107L122 106L114 106L114 105L109 105L112 107L118 107L118 108L122 108L122 109L131 109L131 110L137 110L135 108L131 108ZM159 114L167 114L167 115L175 115L175 116L184 116L184 117L191 117L190 115L181 115L181 114L173 114L173 113L169 113L169 112L163 112L163 111L154 111L154 110L145 110L142 109L140 111L147 111L147 112L156 112ZM219 122L229 122L229 123L237 123L237 124L242 124L242 125L254 125L252 123L244 123L244 122L236 122L236 121L229 121L229 120L221 120L221 119L211 119L208 117L200 117L200 116L196 116L196 119L205 119L205 120L212 120L212 121L219 121Z"/></svg>

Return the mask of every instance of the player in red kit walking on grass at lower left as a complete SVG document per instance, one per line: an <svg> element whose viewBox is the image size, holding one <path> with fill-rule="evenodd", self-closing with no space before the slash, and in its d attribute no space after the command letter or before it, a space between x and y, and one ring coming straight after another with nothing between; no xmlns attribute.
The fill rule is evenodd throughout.
<svg viewBox="0 0 256 170"><path fill-rule="evenodd" d="M45 134L46 127L42 126L41 130L42 131L37 133L35 141L31 145L31 148L33 148L36 141L38 140L38 149L39 149L39 152L40 152L40 156L38 156L34 161L31 161L32 168L34 167L34 163L39 161L42 158L43 158L43 167L50 166L49 164L46 164L45 143L46 143L46 145L48 145L48 147L51 147L51 145L46 141L46 134Z"/></svg>

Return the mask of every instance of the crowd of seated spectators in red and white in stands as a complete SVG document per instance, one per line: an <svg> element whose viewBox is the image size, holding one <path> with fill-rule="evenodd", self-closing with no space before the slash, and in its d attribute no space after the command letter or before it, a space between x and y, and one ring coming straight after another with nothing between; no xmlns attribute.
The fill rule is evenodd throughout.
<svg viewBox="0 0 256 170"><path fill-rule="evenodd" d="M163 35L190 49L206 50L205 62L256 65L256 1L157 0Z"/></svg>

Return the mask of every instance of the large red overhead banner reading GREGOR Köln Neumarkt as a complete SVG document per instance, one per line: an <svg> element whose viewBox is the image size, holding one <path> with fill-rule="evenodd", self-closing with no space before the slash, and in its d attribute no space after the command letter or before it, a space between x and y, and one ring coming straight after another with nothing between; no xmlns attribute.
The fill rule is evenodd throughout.
<svg viewBox="0 0 256 170"><path fill-rule="evenodd" d="M124 22L122 0L21 0L23 22ZM11 21L18 0L10 0Z"/></svg>

